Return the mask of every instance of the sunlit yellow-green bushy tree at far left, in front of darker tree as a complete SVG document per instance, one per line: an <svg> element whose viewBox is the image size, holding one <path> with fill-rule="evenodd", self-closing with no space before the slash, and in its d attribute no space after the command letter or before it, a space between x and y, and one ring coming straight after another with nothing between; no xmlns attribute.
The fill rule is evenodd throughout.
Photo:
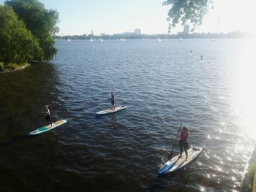
<svg viewBox="0 0 256 192"><path fill-rule="evenodd" d="M39 51L39 42L9 6L0 5L0 61L21 64Z"/></svg>

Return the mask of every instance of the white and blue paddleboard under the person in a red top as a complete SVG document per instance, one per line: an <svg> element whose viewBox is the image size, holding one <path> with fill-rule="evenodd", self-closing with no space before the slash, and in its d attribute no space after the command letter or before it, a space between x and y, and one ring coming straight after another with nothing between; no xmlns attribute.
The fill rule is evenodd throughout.
<svg viewBox="0 0 256 192"><path fill-rule="evenodd" d="M185 152L182 153L181 158L178 158L179 155L173 157L170 161L167 161L161 169L159 169L158 175L170 174L178 171L179 169L184 168L189 163L191 163L198 155L202 152L202 147L191 147L187 150L187 161Z"/></svg>

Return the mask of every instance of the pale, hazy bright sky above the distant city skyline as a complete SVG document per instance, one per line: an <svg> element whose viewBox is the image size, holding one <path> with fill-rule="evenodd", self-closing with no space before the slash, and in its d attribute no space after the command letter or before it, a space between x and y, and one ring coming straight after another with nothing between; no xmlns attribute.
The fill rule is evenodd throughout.
<svg viewBox="0 0 256 192"><path fill-rule="evenodd" d="M59 12L59 35L81 35L134 32L142 34L167 34L167 12L170 6L162 6L164 0L41 0L47 9ZM213 0L202 26L195 32L245 31L256 33L255 0ZM4 1L0 0L0 4ZM182 26L172 34L182 31Z"/></svg>

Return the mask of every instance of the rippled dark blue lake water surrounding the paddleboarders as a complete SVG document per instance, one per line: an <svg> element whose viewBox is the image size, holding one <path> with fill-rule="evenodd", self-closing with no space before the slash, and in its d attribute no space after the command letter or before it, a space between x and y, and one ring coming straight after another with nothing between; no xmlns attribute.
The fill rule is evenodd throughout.
<svg viewBox="0 0 256 192"><path fill-rule="evenodd" d="M51 64L0 74L1 191L238 191L255 138L247 42L57 41ZM110 91L129 107L97 118ZM67 123L27 137L45 104ZM181 121L203 153L158 178Z"/></svg>

